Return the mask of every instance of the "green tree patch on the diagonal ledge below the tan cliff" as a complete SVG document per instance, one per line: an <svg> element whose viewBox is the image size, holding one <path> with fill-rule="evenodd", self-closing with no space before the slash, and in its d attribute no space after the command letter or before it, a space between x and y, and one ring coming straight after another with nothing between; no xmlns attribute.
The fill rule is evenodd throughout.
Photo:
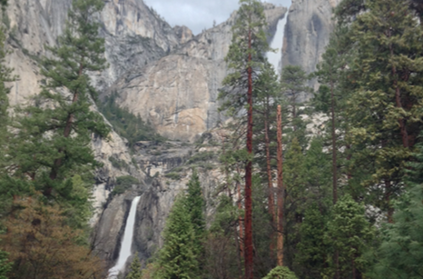
<svg viewBox="0 0 423 279"><path fill-rule="evenodd" d="M126 138L129 146L133 148L139 141L164 142L166 139L157 134L152 125L144 122L140 115L133 115L127 108L116 104L118 95L107 96L103 103L98 102L100 112L113 125L117 134Z"/></svg>

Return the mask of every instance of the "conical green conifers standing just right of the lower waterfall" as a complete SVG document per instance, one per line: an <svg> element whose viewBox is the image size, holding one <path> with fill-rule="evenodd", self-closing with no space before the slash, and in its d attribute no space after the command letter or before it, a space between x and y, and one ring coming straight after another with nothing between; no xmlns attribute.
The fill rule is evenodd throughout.
<svg viewBox="0 0 423 279"><path fill-rule="evenodd" d="M198 278L203 263L204 198L195 170L187 193L176 198L163 230L163 246L152 265L152 278ZM147 271L146 271L147 272Z"/></svg>

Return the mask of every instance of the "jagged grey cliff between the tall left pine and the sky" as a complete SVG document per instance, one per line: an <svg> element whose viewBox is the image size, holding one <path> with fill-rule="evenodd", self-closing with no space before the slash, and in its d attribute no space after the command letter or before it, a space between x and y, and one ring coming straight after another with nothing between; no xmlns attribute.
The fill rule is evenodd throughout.
<svg viewBox="0 0 423 279"><path fill-rule="evenodd" d="M100 15L109 68L93 76L96 87L108 88L126 71L168 55L190 38L187 27L172 28L143 0L106 2Z"/></svg>

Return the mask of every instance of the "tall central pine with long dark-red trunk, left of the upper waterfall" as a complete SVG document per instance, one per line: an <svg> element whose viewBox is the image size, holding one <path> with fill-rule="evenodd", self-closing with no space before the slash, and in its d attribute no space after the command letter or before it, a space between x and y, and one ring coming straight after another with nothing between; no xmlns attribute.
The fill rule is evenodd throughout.
<svg viewBox="0 0 423 279"><path fill-rule="evenodd" d="M253 75L261 70L264 54L270 50L264 28L266 19L263 6L257 0L240 0L237 19L232 27L232 42L225 61L232 70L223 80L225 88L220 93L223 100L222 110L229 110L236 115L246 105L247 135L246 146L248 159L245 165L245 278L252 278L253 247L252 247L252 105L253 105ZM245 94L246 93L246 94Z"/></svg>

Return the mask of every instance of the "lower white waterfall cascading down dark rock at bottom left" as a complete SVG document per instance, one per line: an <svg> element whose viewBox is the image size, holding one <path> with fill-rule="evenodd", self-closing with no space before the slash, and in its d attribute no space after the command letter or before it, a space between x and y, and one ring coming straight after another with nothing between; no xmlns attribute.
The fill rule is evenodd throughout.
<svg viewBox="0 0 423 279"><path fill-rule="evenodd" d="M133 225L135 224L136 206L140 201L140 198L141 196L133 198L133 202L131 203L131 209L129 211L128 219L126 220L125 230L123 233L119 259L117 260L117 263L109 270L109 279L117 278L119 272L123 270L126 260L131 255L131 246L133 244Z"/></svg>

